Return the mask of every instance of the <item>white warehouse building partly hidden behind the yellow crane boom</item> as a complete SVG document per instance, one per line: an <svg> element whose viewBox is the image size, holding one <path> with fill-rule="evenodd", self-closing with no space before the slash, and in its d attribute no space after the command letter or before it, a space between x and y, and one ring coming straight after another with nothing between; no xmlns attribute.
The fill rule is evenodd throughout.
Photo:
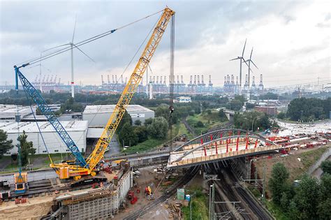
<svg viewBox="0 0 331 220"><path fill-rule="evenodd" d="M89 127L103 127L114 111L115 105L87 105L84 109L83 120L89 122ZM132 122L140 120L144 123L145 119L154 118L154 111L141 105L128 105L126 111L131 115Z"/></svg>

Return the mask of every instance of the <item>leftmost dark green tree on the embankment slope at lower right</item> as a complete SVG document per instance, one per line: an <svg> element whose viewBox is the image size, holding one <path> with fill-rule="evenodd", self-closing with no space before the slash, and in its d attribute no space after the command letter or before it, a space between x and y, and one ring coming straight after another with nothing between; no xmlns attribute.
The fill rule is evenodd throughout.
<svg viewBox="0 0 331 220"><path fill-rule="evenodd" d="M277 205L281 204L281 197L283 196L282 192L289 176L290 173L288 173L288 170L283 163L275 163L274 166L272 166L269 186L272 193L272 200Z"/></svg>

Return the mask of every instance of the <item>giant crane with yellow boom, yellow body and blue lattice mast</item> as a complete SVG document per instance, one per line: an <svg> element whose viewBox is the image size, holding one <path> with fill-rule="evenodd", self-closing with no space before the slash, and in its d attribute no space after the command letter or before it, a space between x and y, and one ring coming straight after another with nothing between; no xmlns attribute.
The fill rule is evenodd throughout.
<svg viewBox="0 0 331 220"><path fill-rule="evenodd" d="M150 36L145 49L142 51L138 63L135 65L133 73L126 84L124 91L122 91L122 95L119 97L119 101L110 115L101 137L98 138L93 152L91 152L87 158L82 156L78 146L75 144L70 135L68 135L66 129L64 129L64 126L61 125L57 117L54 115L54 112L52 112L50 107L45 102L45 99L20 71L20 68L28 66L29 63L22 64L22 66L18 67L14 66L16 89L18 89L18 80L20 80L24 91L31 97L31 99L34 100L43 115L47 118L47 121L52 124L55 131L57 131L68 149L70 149L71 155L73 156L72 161L62 161L62 163L53 163L51 160L50 167L54 168L55 172L59 176L59 179L73 178L75 181L78 181L82 177L93 178L101 170L100 161L103 159L103 154L105 153L108 145L110 145L110 140L112 140L112 136L115 134L115 131L119 126L119 122L121 122L124 112L126 111L131 98L135 94L135 91L142 80L142 76L144 75L154 52L156 51L156 47L158 47L165 29L173 15L175 15L175 11L168 7L164 8L162 11L161 17L156 23L156 27L154 28L154 31L152 31L152 35Z"/></svg>

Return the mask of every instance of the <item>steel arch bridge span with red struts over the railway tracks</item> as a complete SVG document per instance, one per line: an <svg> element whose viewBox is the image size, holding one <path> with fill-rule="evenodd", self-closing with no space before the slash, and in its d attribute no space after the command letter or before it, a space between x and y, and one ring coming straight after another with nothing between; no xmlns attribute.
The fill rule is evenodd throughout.
<svg viewBox="0 0 331 220"><path fill-rule="evenodd" d="M242 129L221 129L200 135L170 153L167 168L184 168L204 163L265 154L281 145L258 133Z"/></svg>

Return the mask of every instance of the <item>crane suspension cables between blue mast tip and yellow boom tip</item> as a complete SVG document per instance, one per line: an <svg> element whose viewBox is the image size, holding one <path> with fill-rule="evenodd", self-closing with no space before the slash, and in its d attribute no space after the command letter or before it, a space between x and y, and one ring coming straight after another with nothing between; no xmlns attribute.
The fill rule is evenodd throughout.
<svg viewBox="0 0 331 220"><path fill-rule="evenodd" d="M163 11L163 10L160 10L160 11L158 11L158 12L156 12L156 13L152 13L151 15L147 15L147 16L145 16L145 17L142 17L142 18L140 18L140 19L138 19L138 20L135 20L135 21L133 21L133 22L130 22L130 23L128 23L128 24L124 24L122 27L118 27L118 28L116 28L116 29L111 29L111 30L109 30L109 31L105 31L105 32L103 32L102 34L98 34L98 35L96 35L96 36L92 36L91 38L87 38L87 39L84 40L84 41L80 41L80 42L76 43L76 44L75 44L75 47L79 47L79 46L81 46L81 45L84 45L84 44L90 43L90 42L92 42L92 41L96 41L96 40L98 40L99 38L103 38L103 37L105 37L105 36L108 36L108 35L114 33L115 31L118 31L118 30L120 30L120 29L124 29L125 27L131 26L132 24L135 24L135 23L140 22L140 21L142 21L142 20L145 20L145 19L147 19L147 18L149 18L149 17L152 17L152 16L154 16L154 15L157 15L157 14L161 13L162 11ZM65 46L65 45L66 45L66 44L64 44L63 46ZM61 46L59 46L59 47L61 47ZM60 49L60 50L56 50L56 51L54 51L54 52L49 52L49 53L47 53L47 54L44 54L43 56L38 56L38 57L35 57L35 58L33 58L33 59L29 59L29 60L27 60L27 61L24 61L24 62L22 62L22 63L17 64L17 66L21 66L21 65L22 65L22 66L27 66L27 65L36 64L36 63L38 63L38 62L40 62L40 61L43 61L43 60L45 60L45 59L49 59L49 58L51 58L51 57L57 56L58 54L61 54L61 53L66 52L66 51L68 51L68 50L71 50L71 45L68 45L68 47L64 47L64 48L62 48L62 49Z"/></svg>

